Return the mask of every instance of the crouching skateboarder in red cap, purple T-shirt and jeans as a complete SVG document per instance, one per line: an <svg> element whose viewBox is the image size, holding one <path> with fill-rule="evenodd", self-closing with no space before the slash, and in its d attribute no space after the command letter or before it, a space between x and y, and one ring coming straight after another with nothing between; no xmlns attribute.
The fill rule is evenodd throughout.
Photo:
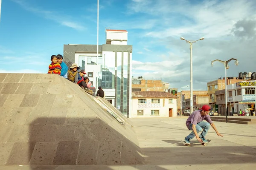
<svg viewBox="0 0 256 170"><path fill-rule="evenodd" d="M203 105L200 110L193 111L193 113L186 120L186 126L189 130L192 130L192 132L185 137L185 142L187 144L190 144L190 140L193 139L195 136L198 142L208 143L208 141L205 139L205 136L210 128L210 125L215 130L218 136L222 136L221 133L218 133L218 130L216 129L214 123L209 116L210 111L211 108L208 105ZM206 120L207 122L203 120ZM201 132L202 129L204 129L203 132L198 136L198 133Z"/></svg>

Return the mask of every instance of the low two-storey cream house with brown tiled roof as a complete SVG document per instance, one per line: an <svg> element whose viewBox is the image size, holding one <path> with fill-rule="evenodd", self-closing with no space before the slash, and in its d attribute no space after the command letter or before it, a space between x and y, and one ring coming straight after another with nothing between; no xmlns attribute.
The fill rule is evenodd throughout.
<svg viewBox="0 0 256 170"><path fill-rule="evenodd" d="M131 117L176 117L177 96L164 91L132 92Z"/></svg>

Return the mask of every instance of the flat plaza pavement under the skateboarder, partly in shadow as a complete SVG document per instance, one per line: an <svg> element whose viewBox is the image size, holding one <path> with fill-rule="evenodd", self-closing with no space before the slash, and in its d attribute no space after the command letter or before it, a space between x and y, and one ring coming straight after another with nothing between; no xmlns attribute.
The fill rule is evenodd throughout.
<svg viewBox="0 0 256 170"><path fill-rule="evenodd" d="M256 169L256 125L214 122L207 146L185 146L180 141L187 130L187 116L130 119L145 159L143 165L2 166L0 170L254 170ZM194 139L195 141L195 139ZM192 141L193 142L193 141Z"/></svg>

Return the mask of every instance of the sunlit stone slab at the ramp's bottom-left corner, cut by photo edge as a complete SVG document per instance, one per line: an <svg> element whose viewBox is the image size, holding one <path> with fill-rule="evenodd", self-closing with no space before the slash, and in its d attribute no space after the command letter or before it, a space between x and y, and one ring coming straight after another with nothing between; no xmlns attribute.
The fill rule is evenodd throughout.
<svg viewBox="0 0 256 170"><path fill-rule="evenodd" d="M4 165L11 153L14 142L0 142L0 165Z"/></svg>

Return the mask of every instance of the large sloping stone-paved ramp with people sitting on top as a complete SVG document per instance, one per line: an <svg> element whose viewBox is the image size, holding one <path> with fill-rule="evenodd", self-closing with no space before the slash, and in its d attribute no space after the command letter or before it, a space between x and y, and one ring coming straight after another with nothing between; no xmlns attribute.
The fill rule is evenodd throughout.
<svg viewBox="0 0 256 170"><path fill-rule="evenodd" d="M55 74L0 74L0 165L143 164L131 122Z"/></svg>

